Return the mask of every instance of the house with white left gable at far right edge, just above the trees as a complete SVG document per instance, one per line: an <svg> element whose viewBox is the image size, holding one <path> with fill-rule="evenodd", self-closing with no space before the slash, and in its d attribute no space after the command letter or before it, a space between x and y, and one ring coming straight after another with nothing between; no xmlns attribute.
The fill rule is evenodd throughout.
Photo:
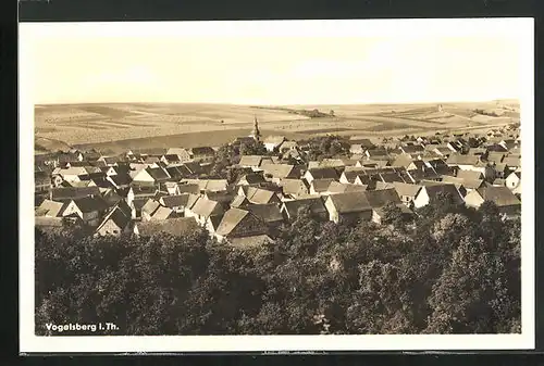
<svg viewBox="0 0 544 366"><path fill-rule="evenodd" d="M521 201L508 187L489 186L475 189L465 197L465 202L469 207L478 209L485 201L495 203L498 211L506 216L519 215L521 211Z"/></svg>

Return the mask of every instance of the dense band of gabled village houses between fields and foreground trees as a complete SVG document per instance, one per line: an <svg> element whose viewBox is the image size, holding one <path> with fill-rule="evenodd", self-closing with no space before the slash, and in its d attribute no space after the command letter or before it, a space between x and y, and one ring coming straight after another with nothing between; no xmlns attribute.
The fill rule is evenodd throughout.
<svg viewBox="0 0 544 366"><path fill-rule="evenodd" d="M242 156L237 167L243 174L233 184L210 176L212 148L95 154L90 161L75 153L49 171L39 168L41 160L35 188L47 198L37 201L36 225L81 220L95 235L114 236L180 236L205 227L219 241L248 245L273 241L302 206L318 220L381 223L387 204L412 215L448 193L472 207L493 201L506 218L520 212L519 144L505 143L503 152L482 148L485 157L448 148L448 157L441 157L425 153L423 141L411 141L393 152L368 146L362 155L287 164L285 155L296 151L304 156L304 147L283 138L268 143L276 154ZM383 150L386 154L380 155Z"/></svg>

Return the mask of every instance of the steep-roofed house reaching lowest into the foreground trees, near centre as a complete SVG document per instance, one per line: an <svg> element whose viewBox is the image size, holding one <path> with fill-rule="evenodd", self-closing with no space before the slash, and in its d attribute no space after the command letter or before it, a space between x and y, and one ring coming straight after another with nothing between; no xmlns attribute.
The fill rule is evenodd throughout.
<svg viewBox="0 0 544 366"><path fill-rule="evenodd" d="M267 224L249 211L233 207L225 212L214 236L219 241L225 239L268 235Z"/></svg>

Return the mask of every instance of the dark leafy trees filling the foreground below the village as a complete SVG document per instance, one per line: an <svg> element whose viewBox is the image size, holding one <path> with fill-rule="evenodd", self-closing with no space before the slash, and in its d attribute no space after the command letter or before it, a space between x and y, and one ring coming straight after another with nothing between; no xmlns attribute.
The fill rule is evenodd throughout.
<svg viewBox="0 0 544 366"><path fill-rule="evenodd" d="M388 206L380 226L322 224L302 209L274 244L251 249L205 230L37 229L36 332L99 321L114 335L520 332L520 237L494 204L448 197L413 219Z"/></svg>

